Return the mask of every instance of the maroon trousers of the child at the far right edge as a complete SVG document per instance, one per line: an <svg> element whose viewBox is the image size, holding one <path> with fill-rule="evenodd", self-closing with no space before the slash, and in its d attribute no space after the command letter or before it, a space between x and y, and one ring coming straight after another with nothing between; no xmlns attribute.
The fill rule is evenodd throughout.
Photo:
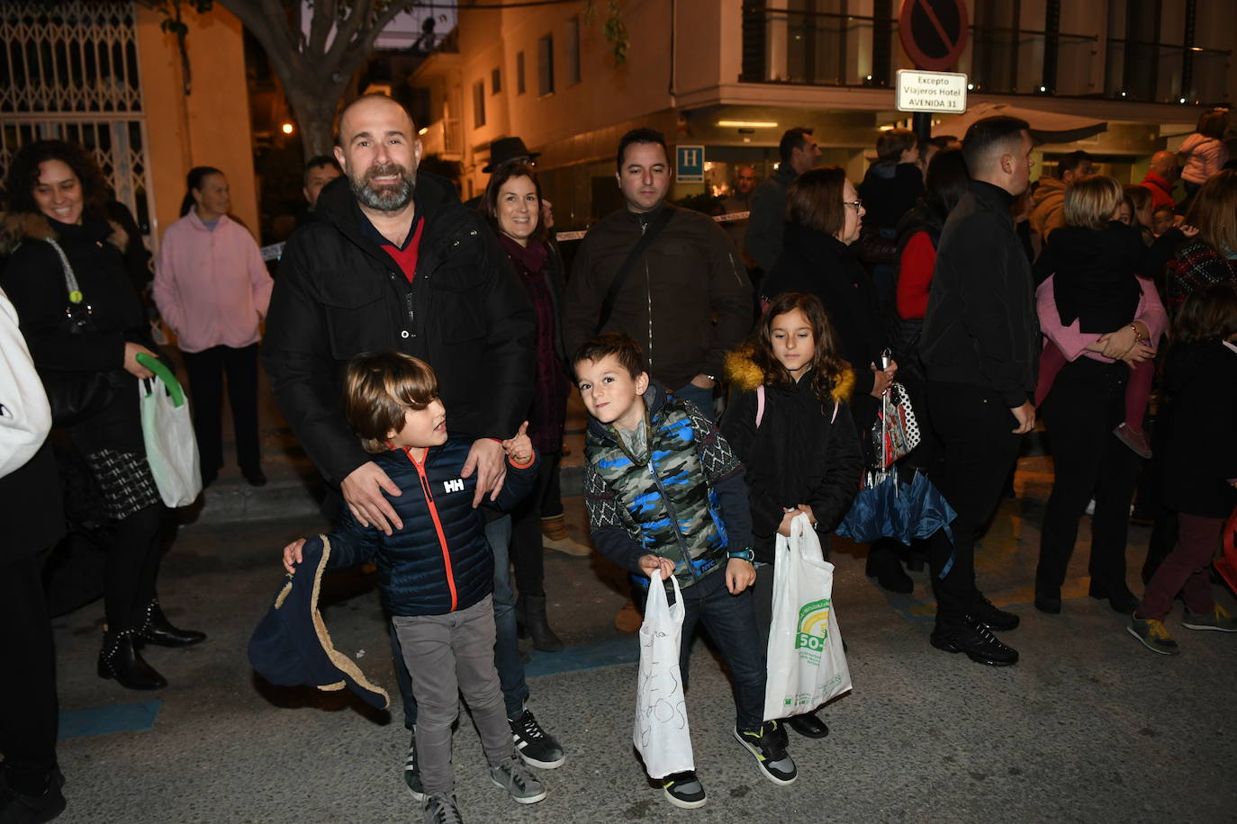
<svg viewBox="0 0 1237 824"><path fill-rule="evenodd" d="M1211 557L1220 545L1225 519L1178 513L1176 521L1176 546L1147 584L1143 603L1134 610L1139 618L1164 620L1173 610L1176 593L1181 593L1191 613L1210 615L1216 607L1211 594Z"/></svg>

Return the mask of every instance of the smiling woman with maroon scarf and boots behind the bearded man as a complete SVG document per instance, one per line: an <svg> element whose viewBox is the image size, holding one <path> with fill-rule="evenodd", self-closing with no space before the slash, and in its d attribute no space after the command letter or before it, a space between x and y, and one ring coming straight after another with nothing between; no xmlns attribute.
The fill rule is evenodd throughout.
<svg viewBox="0 0 1237 824"><path fill-rule="evenodd" d="M526 163L499 167L481 199L499 245L511 258L537 317L536 380L528 410L528 435L542 456L533 492L512 514L511 556L516 568L516 620L543 652L558 652L563 641L546 618L542 504L553 494L563 448L563 421L570 383L563 366L563 262L547 241L541 220L541 183Z"/></svg>

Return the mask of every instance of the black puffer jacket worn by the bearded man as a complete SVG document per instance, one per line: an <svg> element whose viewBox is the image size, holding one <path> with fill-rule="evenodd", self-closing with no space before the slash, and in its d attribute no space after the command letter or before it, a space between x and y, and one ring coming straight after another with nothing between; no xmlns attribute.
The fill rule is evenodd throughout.
<svg viewBox="0 0 1237 824"><path fill-rule="evenodd" d="M416 206L427 224L411 284L365 231L346 177L322 190L318 220L280 262L262 363L292 431L334 483L371 460L341 400L344 367L362 352L434 367L459 435L511 437L532 403L534 320L507 256L443 178L417 174Z"/></svg>

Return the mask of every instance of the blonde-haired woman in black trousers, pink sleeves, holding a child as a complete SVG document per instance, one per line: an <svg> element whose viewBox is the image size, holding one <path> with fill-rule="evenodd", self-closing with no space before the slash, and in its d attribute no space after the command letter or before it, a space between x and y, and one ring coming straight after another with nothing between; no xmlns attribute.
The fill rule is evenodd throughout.
<svg viewBox="0 0 1237 824"><path fill-rule="evenodd" d="M1116 220L1124 193L1112 178L1082 178L1065 193L1065 226L1053 232L1035 264L1039 322L1048 337L1037 400L1056 465L1044 514L1035 573L1035 608L1061 612L1061 584L1079 519L1095 492L1090 595L1131 613L1126 584L1129 500L1138 476L1136 448L1149 373L1168 316L1147 277L1180 231L1148 250L1136 229ZM1143 372L1138 369L1142 368ZM1131 384L1131 371L1143 378ZM1127 404L1127 387L1133 403Z"/></svg>

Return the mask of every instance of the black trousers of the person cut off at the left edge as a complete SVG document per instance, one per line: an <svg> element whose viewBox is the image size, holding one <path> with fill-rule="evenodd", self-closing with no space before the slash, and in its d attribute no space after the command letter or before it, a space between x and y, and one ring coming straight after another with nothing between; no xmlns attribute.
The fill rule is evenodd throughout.
<svg viewBox="0 0 1237 824"><path fill-rule="evenodd" d="M56 767L56 650L43 602L42 561L0 566L0 751L9 786L42 794Z"/></svg>

